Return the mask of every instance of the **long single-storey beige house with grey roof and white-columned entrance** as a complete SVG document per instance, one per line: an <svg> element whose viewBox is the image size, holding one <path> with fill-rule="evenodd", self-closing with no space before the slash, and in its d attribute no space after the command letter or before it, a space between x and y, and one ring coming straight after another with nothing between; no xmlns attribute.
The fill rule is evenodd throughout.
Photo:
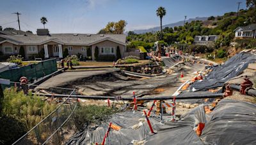
<svg viewBox="0 0 256 145"><path fill-rule="evenodd" d="M38 54L44 49L45 59L63 58L63 50L68 55L81 53L83 57L92 56L95 60L95 48L99 56L115 55L120 49L121 56L126 52L126 35L124 34L50 34L48 29L37 29L36 34L0 31L0 51L4 55L19 54L20 47L25 50L25 59ZM87 54L87 50L91 54Z"/></svg>

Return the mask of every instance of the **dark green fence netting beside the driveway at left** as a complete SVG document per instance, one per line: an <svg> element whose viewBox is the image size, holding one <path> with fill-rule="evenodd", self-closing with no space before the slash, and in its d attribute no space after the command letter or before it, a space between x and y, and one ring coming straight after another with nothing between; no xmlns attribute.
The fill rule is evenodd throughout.
<svg viewBox="0 0 256 145"><path fill-rule="evenodd" d="M28 66L16 67L8 71L0 72L0 78L19 82L20 77L26 76L28 81L34 81L54 71L57 71L56 59L49 59L36 62L35 64L29 64Z"/></svg>

